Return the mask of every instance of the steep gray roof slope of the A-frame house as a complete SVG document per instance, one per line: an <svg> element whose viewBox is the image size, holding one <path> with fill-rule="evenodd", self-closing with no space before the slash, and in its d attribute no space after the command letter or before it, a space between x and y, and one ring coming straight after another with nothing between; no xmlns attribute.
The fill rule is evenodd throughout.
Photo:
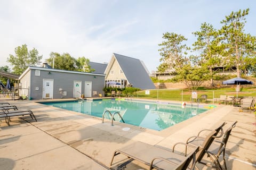
<svg viewBox="0 0 256 170"><path fill-rule="evenodd" d="M145 66L142 65L140 60L116 53L114 53L114 57L121 67L125 77L133 87L140 89L155 89L154 83L149 78Z"/></svg>

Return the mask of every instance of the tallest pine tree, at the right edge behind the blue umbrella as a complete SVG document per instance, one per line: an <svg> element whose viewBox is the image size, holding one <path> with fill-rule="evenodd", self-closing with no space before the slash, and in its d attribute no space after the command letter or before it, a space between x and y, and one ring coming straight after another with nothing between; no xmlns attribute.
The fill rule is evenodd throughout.
<svg viewBox="0 0 256 170"><path fill-rule="evenodd" d="M250 63L255 60L256 38L244 33L246 23L245 16L249 14L249 8L231 12L222 20L221 33L225 38L227 66L236 66L237 77L241 77L242 70L250 68ZM255 65L254 65L255 67Z"/></svg>

